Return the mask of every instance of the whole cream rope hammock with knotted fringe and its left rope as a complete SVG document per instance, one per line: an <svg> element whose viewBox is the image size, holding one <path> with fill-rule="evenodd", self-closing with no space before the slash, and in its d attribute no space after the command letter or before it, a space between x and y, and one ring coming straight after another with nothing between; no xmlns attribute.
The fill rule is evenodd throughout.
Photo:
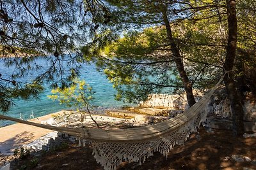
<svg viewBox="0 0 256 170"><path fill-rule="evenodd" d="M153 152L161 152L167 156L173 146L184 145L189 134L196 132L201 122L205 121L206 105L222 80L223 77L210 92L184 113L165 122L145 127L113 130L72 129L37 124L4 115L0 115L0 119L59 131L89 140L92 143L93 154L97 162L104 166L104 169L116 169L123 161L140 162L141 164L147 157L153 155Z"/></svg>

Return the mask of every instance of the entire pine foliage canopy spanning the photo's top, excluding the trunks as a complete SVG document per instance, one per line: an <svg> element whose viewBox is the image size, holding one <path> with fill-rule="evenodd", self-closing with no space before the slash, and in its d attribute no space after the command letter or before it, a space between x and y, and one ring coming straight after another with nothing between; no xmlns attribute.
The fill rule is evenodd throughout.
<svg viewBox="0 0 256 170"><path fill-rule="evenodd" d="M237 1L239 37L234 71L237 80L243 79L237 82L251 90L256 89L255 8L254 1ZM106 73L118 90L116 99L138 102L149 93L179 89L180 77L162 25L163 11L193 87L211 87L223 73L226 1L1 1L0 55L15 56L4 59L15 71L0 73L1 110L9 110L16 98L37 97L45 82L54 89L70 87L66 93L76 94L73 81L84 61L96 62ZM77 55L79 52L83 55ZM28 70L42 68L35 62L38 55L49 67L30 83L17 82ZM56 96L51 97L60 99ZM83 107L78 104L83 98L64 96L61 103Z"/></svg>

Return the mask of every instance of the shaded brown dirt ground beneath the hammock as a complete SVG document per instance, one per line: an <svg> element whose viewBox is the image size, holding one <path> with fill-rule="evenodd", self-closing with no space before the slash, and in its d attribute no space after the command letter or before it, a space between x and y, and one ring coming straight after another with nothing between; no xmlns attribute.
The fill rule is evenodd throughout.
<svg viewBox="0 0 256 170"><path fill-rule="evenodd" d="M205 131L201 127L198 134L191 134L191 138L185 146L175 146L168 155L163 157L160 153L154 153L141 166L138 163L123 162L119 170L126 169L255 169L252 162L236 162L232 155L243 155L256 160L256 138L243 138L232 136L227 130ZM225 157L230 157L227 159ZM68 144L65 147L46 152L36 158L26 157L16 160L12 169L104 169L97 164L92 155L90 146L77 147ZM33 164L33 167L31 166ZM16 165L16 166L14 166ZM14 166L14 167L13 167ZM30 168L29 168L30 167Z"/></svg>

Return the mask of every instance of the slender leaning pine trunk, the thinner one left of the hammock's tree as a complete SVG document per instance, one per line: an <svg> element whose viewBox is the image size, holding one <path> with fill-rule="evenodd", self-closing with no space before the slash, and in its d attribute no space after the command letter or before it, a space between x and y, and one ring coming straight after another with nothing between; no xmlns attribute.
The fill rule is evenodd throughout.
<svg viewBox="0 0 256 170"><path fill-rule="evenodd" d="M179 71L180 78L182 79L182 83L183 83L184 89L186 91L188 104L189 104L189 106L193 106L193 104L195 104L196 101L195 101L195 97L194 97L193 91L192 91L192 84L189 81L188 75L187 75L187 73L184 69L182 57L179 53L179 48L177 47L177 45L176 45L176 43L173 39L172 29L171 29L168 17L166 15L166 10L162 11L162 15L163 15L164 25L165 25L165 28L166 28L166 33L167 33L167 36L168 36L168 41L169 41L169 43L171 45L171 48L172 48L171 50L172 50L172 54L173 54L173 59L174 59L174 62L176 64L176 67Z"/></svg>

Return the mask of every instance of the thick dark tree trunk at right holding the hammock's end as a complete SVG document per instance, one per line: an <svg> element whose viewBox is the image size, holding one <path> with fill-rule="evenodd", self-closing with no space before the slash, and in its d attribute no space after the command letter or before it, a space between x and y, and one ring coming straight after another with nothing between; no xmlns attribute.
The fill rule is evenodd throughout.
<svg viewBox="0 0 256 170"><path fill-rule="evenodd" d="M236 42L237 42L237 17L236 17L236 0L227 0L227 15L228 15L228 43L227 53L224 63L224 69L227 71L224 77L225 87L230 99L233 133L241 135L244 132L243 124L243 105L241 97L236 90L234 82L234 60L236 58Z"/></svg>

